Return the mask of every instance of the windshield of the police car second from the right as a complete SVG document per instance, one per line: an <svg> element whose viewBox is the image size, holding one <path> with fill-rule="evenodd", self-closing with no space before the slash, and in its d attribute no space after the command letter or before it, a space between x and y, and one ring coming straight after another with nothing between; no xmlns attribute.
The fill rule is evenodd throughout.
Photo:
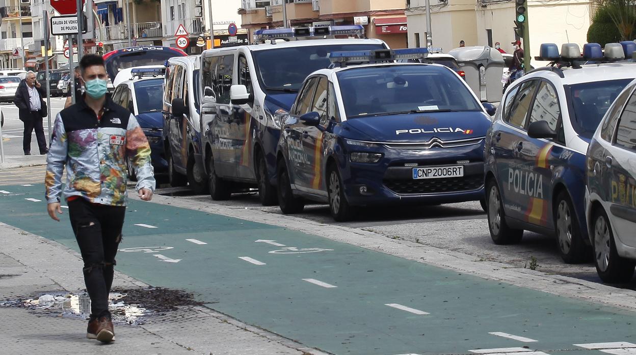
<svg viewBox="0 0 636 355"><path fill-rule="evenodd" d="M570 85L568 100L574 110L570 121L576 133L591 139L609 106L631 81L617 79Z"/></svg>

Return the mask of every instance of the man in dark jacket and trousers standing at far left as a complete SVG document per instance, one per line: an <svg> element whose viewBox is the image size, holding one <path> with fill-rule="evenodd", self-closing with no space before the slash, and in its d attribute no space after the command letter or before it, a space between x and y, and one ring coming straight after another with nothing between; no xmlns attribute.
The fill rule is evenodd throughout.
<svg viewBox="0 0 636 355"><path fill-rule="evenodd" d="M18 85L13 101L18 107L18 117L24 123L22 149L25 156L31 155L31 134L36 131L40 154L48 153L42 117L46 117L45 93L36 81L36 73L27 72L27 76Z"/></svg>

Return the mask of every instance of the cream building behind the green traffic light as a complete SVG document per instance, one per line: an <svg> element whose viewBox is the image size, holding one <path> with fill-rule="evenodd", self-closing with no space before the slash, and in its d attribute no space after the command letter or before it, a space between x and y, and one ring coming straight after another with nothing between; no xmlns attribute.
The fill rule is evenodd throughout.
<svg viewBox="0 0 636 355"><path fill-rule="evenodd" d="M430 4L433 47L448 52L462 40L466 46L494 46L500 42L505 51L513 52L511 42L517 39L515 0L430 0ZM424 47L425 0L408 0L406 6L408 46ZM586 43L590 13L588 0L529 0L532 57L541 43Z"/></svg>

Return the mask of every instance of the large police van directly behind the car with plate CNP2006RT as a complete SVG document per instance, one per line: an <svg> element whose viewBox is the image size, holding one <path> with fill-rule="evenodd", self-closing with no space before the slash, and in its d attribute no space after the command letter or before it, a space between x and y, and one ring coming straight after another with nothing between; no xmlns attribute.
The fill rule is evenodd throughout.
<svg viewBox="0 0 636 355"><path fill-rule="evenodd" d="M379 39L325 38L363 33L359 25L257 30L260 44L202 53L202 153L212 199L258 187L261 203L276 203L277 113L289 111L308 74L329 66L329 52L387 48Z"/></svg>

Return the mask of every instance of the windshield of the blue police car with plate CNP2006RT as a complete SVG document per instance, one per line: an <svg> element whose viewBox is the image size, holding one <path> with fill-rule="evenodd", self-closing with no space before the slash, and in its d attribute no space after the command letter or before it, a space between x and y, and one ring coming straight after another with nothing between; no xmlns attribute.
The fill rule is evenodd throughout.
<svg viewBox="0 0 636 355"><path fill-rule="evenodd" d="M483 110L462 80L445 67L360 67L343 70L337 76L348 118Z"/></svg>

